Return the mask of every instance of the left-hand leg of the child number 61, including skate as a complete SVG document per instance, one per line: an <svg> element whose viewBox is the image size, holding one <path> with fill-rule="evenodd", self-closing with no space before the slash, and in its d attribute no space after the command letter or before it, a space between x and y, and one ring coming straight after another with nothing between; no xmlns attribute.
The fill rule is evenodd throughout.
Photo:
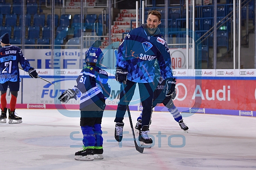
<svg viewBox="0 0 256 170"><path fill-rule="evenodd" d="M95 148L95 134L93 126L96 121L94 111L81 111L80 126L83 133L83 150L75 153L75 159L79 161L93 161Z"/></svg>

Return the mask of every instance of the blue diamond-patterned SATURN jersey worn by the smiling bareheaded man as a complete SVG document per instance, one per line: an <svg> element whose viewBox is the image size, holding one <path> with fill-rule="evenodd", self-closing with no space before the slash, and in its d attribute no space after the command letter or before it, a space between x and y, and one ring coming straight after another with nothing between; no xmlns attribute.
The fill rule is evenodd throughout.
<svg viewBox="0 0 256 170"><path fill-rule="evenodd" d="M147 35L141 26L130 31L119 46L116 67L128 69L128 80L139 83L153 82L156 59L162 77L173 78L167 42L161 34Z"/></svg>

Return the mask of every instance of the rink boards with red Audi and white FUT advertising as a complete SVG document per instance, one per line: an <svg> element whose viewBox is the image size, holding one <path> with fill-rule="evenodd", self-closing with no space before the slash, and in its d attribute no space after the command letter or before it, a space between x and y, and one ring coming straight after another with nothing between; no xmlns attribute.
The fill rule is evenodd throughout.
<svg viewBox="0 0 256 170"><path fill-rule="evenodd" d="M107 71L111 96L106 100L106 110L116 110L120 84L114 78L115 70ZM31 79L20 71L17 108L79 109L79 101L71 99L61 104L58 97L76 84L80 69L37 69L37 72L40 77L57 82L58 86L42 79ZM174 69L173 74L177 79L174 104L180 112L256 116L256 69ZM8 90L7 103L9 101ZM142 110L137 87L130 110ZM160 104L154 111L167 112L167 109Z"/></svg>

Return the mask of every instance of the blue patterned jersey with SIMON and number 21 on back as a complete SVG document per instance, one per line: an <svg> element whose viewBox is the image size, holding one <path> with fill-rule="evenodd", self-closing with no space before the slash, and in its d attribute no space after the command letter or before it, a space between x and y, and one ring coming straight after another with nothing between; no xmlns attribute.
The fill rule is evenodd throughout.
<svg viewBox="0 0 256 170"><path fill-rule="evenodd" d="M0 83L20 81L19 63L24 71L32 68L17 46L4 46L0 49Z"/></svg>

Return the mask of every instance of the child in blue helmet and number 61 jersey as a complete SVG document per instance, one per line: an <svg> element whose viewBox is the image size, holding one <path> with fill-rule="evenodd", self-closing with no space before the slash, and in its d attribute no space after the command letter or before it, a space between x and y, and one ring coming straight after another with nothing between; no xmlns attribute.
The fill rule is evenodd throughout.
<svg viewBox="0 0 256 170"><path fill-rule="evenodd" d="M105 109L105 99L109 97L108 73L100 66L103 53L100 48L91 47L85 55L85 66L78 78L77 85L64 91L59 100L80 98L80 126L83 133L83 150L75 153L76 160L103 159L103 138L101 121Z"/></svg>

